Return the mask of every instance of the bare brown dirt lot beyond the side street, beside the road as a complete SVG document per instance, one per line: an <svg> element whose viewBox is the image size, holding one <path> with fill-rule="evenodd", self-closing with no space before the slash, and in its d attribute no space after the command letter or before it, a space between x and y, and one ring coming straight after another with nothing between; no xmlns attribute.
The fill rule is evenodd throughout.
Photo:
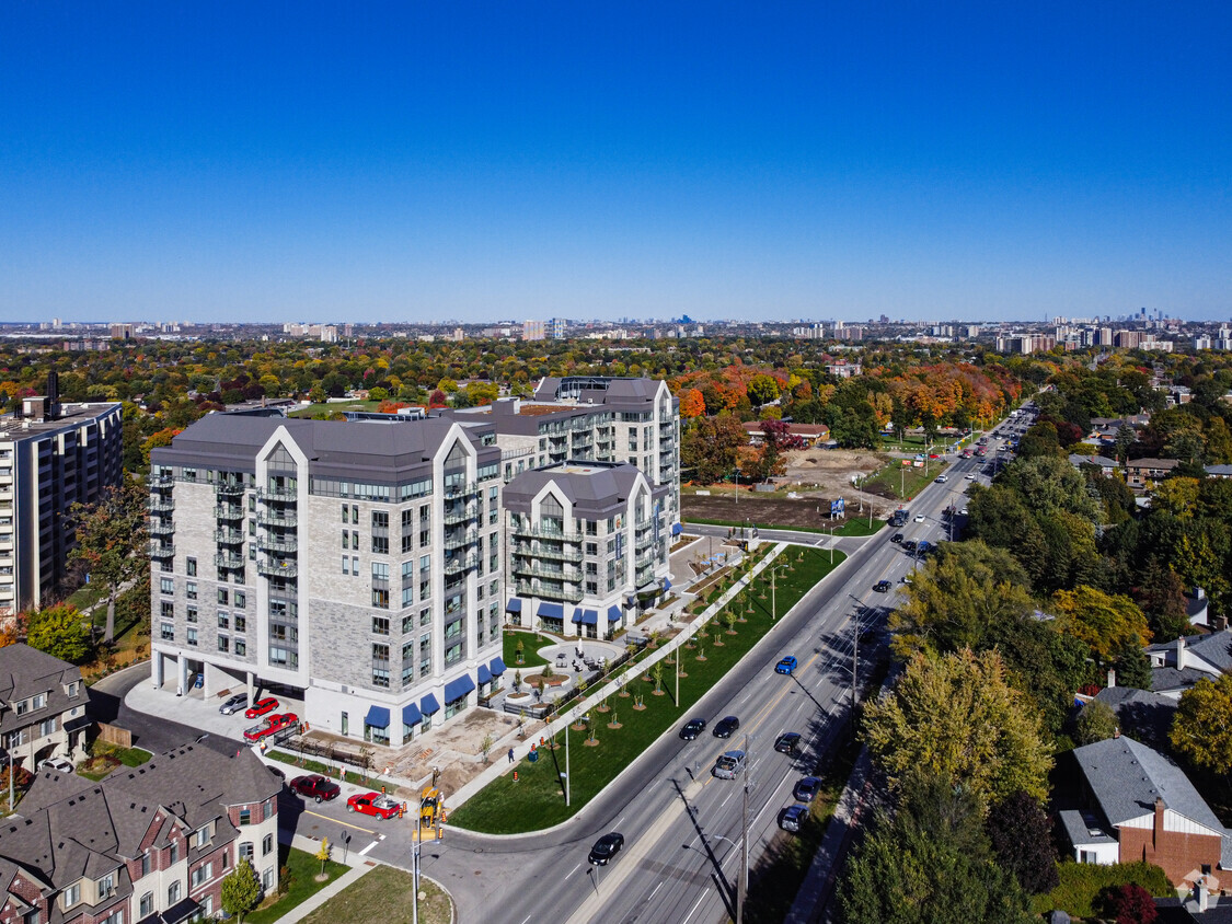
<svg viewBox="0 0 1232 924"><path fill-rule="evenodd" d="M846 500L848 513L859 509L851 476L867 476L882 468L888 456L860 450L798 450L787 455L787 473L779 479L780 489L771 493L754 492L740 488L740 499L736 501L731 487L716 488L710 496L697 496L686 493L680 498L684 516L702 520L744 520L758 524L776 524L782 526L830 526L829 503L835 498ZM798 495L788 499L787 493ZM897 501L883 498L872 499L877 514L883 514ZM737 503L739 508L737 508ZM841 521L835 521L835 526Z"/></svg>

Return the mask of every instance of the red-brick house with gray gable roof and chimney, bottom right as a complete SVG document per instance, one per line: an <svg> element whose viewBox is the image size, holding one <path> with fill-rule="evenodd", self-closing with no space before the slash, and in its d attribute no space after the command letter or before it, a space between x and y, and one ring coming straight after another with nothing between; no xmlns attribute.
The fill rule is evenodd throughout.
<svg viewBox="0 0 1232 924"><path fill-rule="evenodd" d="M1078 862L1146 862L1174 885L1232 869L1232 833L1159 752L1117 737L1073 750L1082 809L1060 813Z"/></svg>

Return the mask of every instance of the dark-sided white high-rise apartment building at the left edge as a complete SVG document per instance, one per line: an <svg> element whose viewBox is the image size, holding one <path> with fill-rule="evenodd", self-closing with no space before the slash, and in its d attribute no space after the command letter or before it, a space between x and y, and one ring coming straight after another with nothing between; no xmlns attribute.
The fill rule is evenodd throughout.
<svg viewBox="0 0 1232 924"><path fill-rule="evenodd" d="M67 514L118 485L118 403L65 404L48 394L0 416L0 618L43 606L67 577L75 537Z"/></svg>

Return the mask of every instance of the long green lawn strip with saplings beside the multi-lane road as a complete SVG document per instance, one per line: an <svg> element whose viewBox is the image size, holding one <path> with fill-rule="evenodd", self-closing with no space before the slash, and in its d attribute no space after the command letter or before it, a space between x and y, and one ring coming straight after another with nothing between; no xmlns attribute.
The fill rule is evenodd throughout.
<svg viewBox="0 0 1232 924"><path fill-rule="evenodd" d="M803 558L801 559L801 556ZM843 562L844 556L834 556L830 564L829 551L788 548L779 562L791 570L780 568L776 579L777 615L782 616L817 582ZM564 769L564 749L542 749L536 763L526 758L517 765L519 782L513 774L493 780L480 792L450 814L450 823L460 828L488 832L492 834L515 834L538 830L558 824L573 816L579 808L595 797L616 775L637 758L646 748L668 728L689 716L689 708L710 690L731 668L743 658L749 649L770 628L770 577L765 572L754 583L752 593L745 593L743 602L734 602L732 609L747 622L737 622L737 634L724 633L724 623L716 618L702 633L700 646L684 648L681 667L687 676L680 679L680 705L673 702L673 669L665 665L663 689L665 695L655 696L654 681L641 678L626 687L630 697L618 695L607 700L611 712L591 712L595 724L595 737L599 744L586 747L585 732L562 732L557 736L561 745L564 734L569 736L570 760L570 801L565 807L561 792L559 772ZM763 599L763 589L766 596ZM753 612L747 612L752 600ZM723 644L715 646L718 634ZM696 641L696 639L695 639ZM699 660L703 653L706 660ZM643 710L634 710L632 695L644 696ZM607 723L618 719L621 728L609 728Z"/></svg>

